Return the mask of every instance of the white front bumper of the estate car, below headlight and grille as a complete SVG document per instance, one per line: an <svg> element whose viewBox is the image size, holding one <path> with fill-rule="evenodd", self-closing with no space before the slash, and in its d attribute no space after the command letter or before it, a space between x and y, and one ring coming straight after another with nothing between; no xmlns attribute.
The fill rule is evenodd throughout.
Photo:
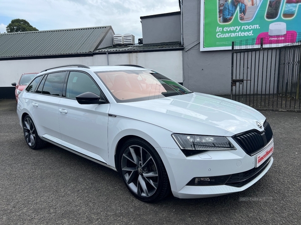
<svg viewBox="0 0 301 225"><path fill-rule="evenodd" d="M256 167L257 155L273 147L273 139L252 156L246 154L238 145L235 147L237 150L207 151L189 157L175 154L176 149L162 149L167 156L168 163L164 163L174 196L201 198L242 191L257 182L273 163L272 155L269 155L264 163ZM214 178L224 175L229 175L229 179L221 185L198 185L193 182L196 177Z"/></svg>

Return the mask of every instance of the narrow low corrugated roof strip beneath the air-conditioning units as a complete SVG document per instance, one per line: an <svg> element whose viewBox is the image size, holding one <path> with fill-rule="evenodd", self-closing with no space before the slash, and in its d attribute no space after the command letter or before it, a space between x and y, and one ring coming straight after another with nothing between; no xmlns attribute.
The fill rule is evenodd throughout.
<svg viewBox="0 0 301 225"><path fill-rule="evenodd" d="M112 46L97 49L95 52L108 52L108 51L142 51L142 50L171 50L173 48L181 49L184 48L181 42L176 43L158 43L158 44L139 44L139 45L127 45L127 46Z"/></svg>

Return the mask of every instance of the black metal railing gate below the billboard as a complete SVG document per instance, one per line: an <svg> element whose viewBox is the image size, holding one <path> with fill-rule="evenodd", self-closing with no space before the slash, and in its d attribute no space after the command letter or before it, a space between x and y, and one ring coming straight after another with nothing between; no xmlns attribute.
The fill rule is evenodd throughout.
<svg viewBox="0 0 301 225"><path fill-rule="evenodd" d="M231 99L256 109L301 111L301 44L234 49Z"/></svg>

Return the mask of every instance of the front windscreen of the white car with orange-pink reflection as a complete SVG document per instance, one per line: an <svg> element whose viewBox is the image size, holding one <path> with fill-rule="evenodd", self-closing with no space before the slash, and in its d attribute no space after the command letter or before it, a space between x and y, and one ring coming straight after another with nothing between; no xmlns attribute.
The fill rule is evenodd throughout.
<svg viewBox="0 0 301 225"><path fill-rule="evenodd" d="M132 102L187 94L191 91L152 70L117 70L95 72L116 102Z"/></svg>

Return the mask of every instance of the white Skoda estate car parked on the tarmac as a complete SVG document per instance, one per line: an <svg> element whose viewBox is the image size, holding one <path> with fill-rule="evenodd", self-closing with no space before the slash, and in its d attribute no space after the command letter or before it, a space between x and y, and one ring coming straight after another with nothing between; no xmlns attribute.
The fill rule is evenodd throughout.
<svg viewBox="0 0 301 225"><path fill-rule="evenodd" d="M139 66L44 70L19 95L17 113L30 148L50 142L119 171L148 202L170 191L242 191L273 162L273 133L260 112Z"/></svg>

